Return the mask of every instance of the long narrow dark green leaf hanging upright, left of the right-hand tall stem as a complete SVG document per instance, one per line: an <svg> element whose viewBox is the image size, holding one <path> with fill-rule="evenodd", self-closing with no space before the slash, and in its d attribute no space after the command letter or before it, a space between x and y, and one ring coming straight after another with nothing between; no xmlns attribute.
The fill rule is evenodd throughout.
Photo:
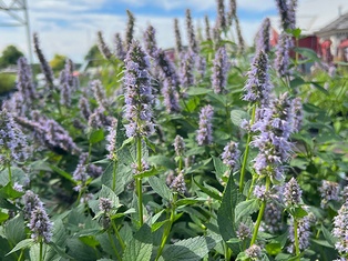
<svg viewBox="0 0 348 261"><path fill-rule="evenodd" d="M237 238L236 222L235 222L235 209L238 202L238 191L234 183L233 175L229 175L226 184L222 204L217 210L217 225L219 233L225 242L229 239ZM234 253L238 253L239 247L237 244L227 243Z"/></svg>

